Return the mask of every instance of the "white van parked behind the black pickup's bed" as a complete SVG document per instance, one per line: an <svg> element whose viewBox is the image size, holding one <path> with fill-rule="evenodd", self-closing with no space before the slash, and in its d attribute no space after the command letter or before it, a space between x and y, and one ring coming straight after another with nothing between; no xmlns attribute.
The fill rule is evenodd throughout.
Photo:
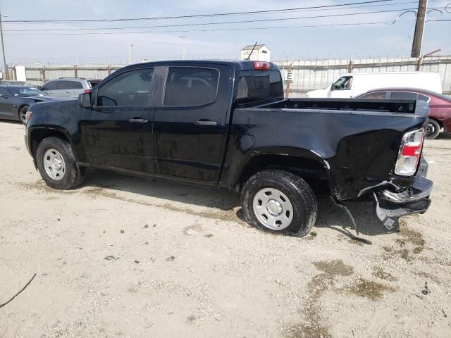
<svg viewBox="0 0 451 338"><path fill-rule="evenodd" d="M371 89L386 87L419 88L443 94L442 81L438 73L349 73L340 76L325 89L308 92L307 97L354 97Z"/></svg>

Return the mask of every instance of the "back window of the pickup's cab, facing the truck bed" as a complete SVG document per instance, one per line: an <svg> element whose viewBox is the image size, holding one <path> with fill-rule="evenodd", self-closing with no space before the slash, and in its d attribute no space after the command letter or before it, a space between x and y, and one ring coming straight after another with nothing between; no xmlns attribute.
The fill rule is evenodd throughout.
<svg viewBox="0 0 451 338"><path fill-rule="evenodd" d="M237 104L283 99L283 82L278 70L243 70L238 82Z"/></svg>

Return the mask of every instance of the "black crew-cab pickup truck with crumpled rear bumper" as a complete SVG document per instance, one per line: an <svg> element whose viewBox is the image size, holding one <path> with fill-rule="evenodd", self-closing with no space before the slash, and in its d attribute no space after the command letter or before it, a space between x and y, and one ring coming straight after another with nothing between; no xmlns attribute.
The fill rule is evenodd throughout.
<svg viewBox="0 0 451 338"><path fill-rule="evenodd" d="M385 227L424 213L427 117L409 100L284 99L272 63L168 61L31 106L25 142L54 189L81 184L87 167L223 187L241 193L250 224L304 236L321 189L351 218L342 201L375 201Z"/></svg>

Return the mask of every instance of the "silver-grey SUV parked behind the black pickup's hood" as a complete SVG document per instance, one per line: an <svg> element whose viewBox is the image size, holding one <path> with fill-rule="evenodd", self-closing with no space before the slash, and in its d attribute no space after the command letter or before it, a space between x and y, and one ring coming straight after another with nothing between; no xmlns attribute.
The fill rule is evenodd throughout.
<svg viewBox="0 0 451 338"><path fill-rule="evenodd" d="M65 99L76 99L83 92L89 92L100 80L86 80L81 77L60 77L50 80L41 87L42 92Z"/></svg>

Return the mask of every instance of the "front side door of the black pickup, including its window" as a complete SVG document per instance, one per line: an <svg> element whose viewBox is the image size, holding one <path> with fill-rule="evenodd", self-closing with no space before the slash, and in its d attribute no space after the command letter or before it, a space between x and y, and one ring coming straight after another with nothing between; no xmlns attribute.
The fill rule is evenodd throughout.
<svg viewBox="0 0 451 338"><path fill-rule="evenodd" d="M152 75L153 68L128 70L92 92L93 107L81 123L89 163L155 173Z"/></svg>

